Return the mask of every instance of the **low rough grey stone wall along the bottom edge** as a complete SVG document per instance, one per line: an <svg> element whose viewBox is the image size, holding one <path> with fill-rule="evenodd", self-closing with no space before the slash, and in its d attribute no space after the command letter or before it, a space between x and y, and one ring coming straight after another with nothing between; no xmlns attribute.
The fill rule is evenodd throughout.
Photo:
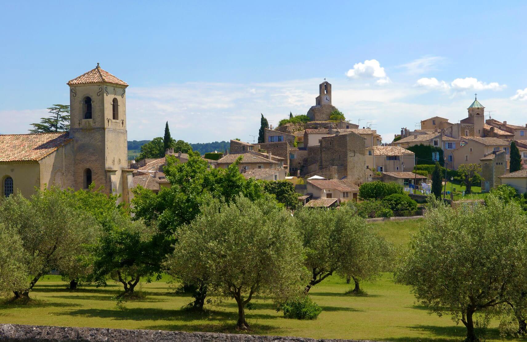
<svg viewBox="0 0 527 342"><path fill-rule="evenodd" d="M96 342L374 342L370 340L313 339L302 337L219 334L165 330L128 330L0 324L0 341L96 341Z"/></svg>

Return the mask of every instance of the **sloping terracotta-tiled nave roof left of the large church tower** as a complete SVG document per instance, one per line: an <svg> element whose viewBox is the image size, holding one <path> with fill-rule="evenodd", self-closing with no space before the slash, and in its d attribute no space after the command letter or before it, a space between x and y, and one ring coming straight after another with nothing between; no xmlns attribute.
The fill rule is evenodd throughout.
<svg viewBox="0 0 527 342"><path fill-rule="evenodd" d="M67 132L0 135L0 162L38 161L72 140Z"/></svg>

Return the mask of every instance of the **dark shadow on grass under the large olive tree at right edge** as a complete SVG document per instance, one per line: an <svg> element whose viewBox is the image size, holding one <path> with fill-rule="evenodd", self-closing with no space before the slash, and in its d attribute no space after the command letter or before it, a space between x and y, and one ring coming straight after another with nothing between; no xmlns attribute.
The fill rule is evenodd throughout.
<svg viewBox="0 0 527 342"><path fill-rule="evenodd" d="M442 327L442 326L431 326L431 325L415 325L415 326L404 326L401 328L410 329L414 331L419 332L430 332L431 334L435 335L434 337L392 337L392 338L383 338L385 340L394 341L394 342L426 342L426 341L433 341L433 342L443 342L443 341L462 341L466 337L466 328L465 326L458 325L458 326L448 326L448 327ZM477 334L477 332L476 332ZM495 328L489 328L486 329L485 336L486 339L496 339L496 340L503 340L503 338L500 336L500 331ZM513 340L512 338L505 338L505 340Z"/></svg>

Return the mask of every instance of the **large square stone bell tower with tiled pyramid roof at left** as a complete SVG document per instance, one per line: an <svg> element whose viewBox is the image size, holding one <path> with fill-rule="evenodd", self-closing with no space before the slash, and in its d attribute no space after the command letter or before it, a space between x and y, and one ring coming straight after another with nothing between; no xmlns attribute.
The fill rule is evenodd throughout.
<svg viewBox="0 0 527 342"><path fill-rule="evenodd" d="M74 188L92 182L129 201L126 82L97 67L67 82L70 137L74 143ZM130 186L131 187L131 186Z"/></svg>

